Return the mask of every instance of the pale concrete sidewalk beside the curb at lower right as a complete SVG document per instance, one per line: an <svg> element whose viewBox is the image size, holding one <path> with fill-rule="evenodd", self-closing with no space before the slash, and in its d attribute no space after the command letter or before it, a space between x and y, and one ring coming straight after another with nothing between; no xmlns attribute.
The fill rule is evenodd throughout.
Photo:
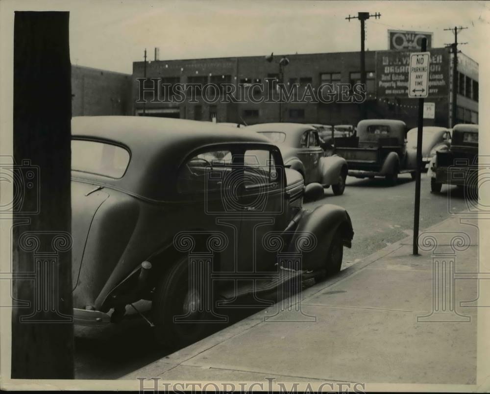
<svg viewBox="0 0 490 394"><path fill-rule="evenodd" d="M429 233L435 251L430 238L420 256L411 237L392 244L303 291L299 310L276 304L122 379L473 385L478 281L457 278L478 271L478 229L453 217ZM448 297L433 297L433 283Z"/></svg>

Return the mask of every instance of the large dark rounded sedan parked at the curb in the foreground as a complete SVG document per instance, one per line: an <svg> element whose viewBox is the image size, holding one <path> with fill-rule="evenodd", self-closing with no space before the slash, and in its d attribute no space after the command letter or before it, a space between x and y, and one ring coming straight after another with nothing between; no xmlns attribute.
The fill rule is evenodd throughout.
<svg viewBox="0 0 490 394"><path fill-rule="evenodd" d="M305 187L257 133L179 119L73 118L74 323L118 322L147 300L158 341L174 348L202 337L200 322L216 318L206 309L214 296L284 281L277 253L302 250L301 237L313 242L303 271L339 271L351 220L336 205L302 208L319 195L323 188Z"/></svg>

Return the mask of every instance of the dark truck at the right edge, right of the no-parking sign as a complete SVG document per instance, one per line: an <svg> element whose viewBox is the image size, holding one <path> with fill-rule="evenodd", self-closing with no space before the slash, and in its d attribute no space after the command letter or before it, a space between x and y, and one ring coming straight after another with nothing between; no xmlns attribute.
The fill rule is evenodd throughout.
<svg viewBox="0 0 490 394"><path fill-rule="evenodd" d="M478 124L456 124L448 150L438 150L429 165L432 193L443 184L476 188L478 186Z"/></svg>

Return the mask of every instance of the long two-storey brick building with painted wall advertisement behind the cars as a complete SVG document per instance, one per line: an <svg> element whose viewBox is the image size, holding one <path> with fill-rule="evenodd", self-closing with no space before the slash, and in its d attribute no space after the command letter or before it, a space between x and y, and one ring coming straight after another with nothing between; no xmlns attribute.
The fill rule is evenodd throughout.
<svg viewBox="0 0 490 394"><path fill-rule="evenodd" d="M451 120L452 61L446 48L429 49L431 69L429 98L435 103L435 118L426 119L426 125L448 126ZM144 62L133 63L132 102L133 113L147 116L177 117L217 122L239 122L246 124L277 122L279 110L283 122L357 124L367 118L400 119L409 127L417 122L417 99L408 98L409 51L380 50L366 51L367 99L363 105L357 103L208 103L202 97L196 102L186 100L180 104L169 100L137 102L139 82L144 76ZM478 122L478 64L460 54L458 73L458 119L457 123ZM265 78L279 75L278 61L272 62L264 56L224 57L209 59L157 60L147 62L147 78L161 78L163 83L217 83L220 81L246 87L251 83L263 83ZM283 81L306 84L318 89L321 83L355 83L360 80L360 52L335 52L287 55L289 64L283 67ZM146 88L152 84L146 85ZM273 89L273 87L272 87ZM264 94L267 94L264 93ZM279 108L281 106L281 108ZM366 111L366 112L363 112Z"/></svg>

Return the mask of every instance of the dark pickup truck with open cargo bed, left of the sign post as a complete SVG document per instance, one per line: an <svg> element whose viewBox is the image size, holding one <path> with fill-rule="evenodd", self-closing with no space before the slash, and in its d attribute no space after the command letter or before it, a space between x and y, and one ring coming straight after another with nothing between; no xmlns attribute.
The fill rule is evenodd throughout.
<svg viewBox="0 0 490 394"><path fill-rule="evenodd" d="M384 176L395 184L399 173L409 172L415 179L417 152L407 148L406 130L398 120L363 120L356 137L335 140L334 152L347 160L348 174L357 178Z"/></svg>

